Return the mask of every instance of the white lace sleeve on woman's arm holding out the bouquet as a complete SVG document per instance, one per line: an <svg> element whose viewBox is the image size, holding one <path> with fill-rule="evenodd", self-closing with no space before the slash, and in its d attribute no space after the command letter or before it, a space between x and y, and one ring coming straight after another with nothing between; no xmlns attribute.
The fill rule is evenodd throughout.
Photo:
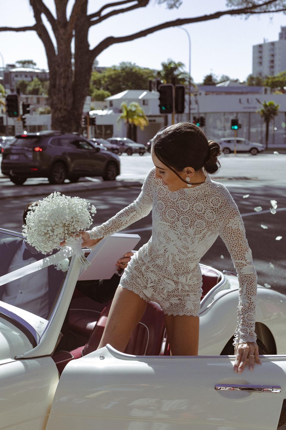
<svg viewBox="0 0 286 430"><path fill-rule="evenodd" d="M133 203L126 206L126 208L122 209L105 223L87 231L90 239L99 239L111 236L111 234L123 230L133 222L144 218L151 212L153 203L152 173L154 177L154 169L152 169L146 176L141 193Z"/></svg>

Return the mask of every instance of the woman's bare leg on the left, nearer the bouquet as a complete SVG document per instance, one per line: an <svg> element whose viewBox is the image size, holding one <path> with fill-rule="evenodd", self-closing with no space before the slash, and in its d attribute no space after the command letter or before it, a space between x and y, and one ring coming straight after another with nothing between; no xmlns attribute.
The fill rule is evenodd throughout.
<svg viewBox="0 0 286 430"><path fill-rule="evenodd" d="M146 310L147 302L134 292L118 287L97 349L110 344L123 352Z"/></svg>

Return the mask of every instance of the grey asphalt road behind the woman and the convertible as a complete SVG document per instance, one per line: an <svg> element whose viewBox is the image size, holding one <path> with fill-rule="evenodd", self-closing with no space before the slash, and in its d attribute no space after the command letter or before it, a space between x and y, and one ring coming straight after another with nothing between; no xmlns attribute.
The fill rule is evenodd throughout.
<svg viewBox="0 0 286 430"><path fill-rule="evenodd" d="M253 252L254 264L258 273L260 284L267 283L271 288L286 294L286 195L285 195L285 163L286 155L261 155L251 157L248 155L233 155L223 157L222 168L214 180L221 181L228 187L244 220L247 239ZM132 156L121 157L122 179L143 179L148 170L153 166L151 157ZM232 179L230 179L232 178ZM90 178L99 182L99 178ZM45 185L39 181L38 185ZM89 181L88 178L85 181ZM15 187L7 180L0 181L0 193L5 190L7 198L0 200L1 227L21 231L22 211L24 206L35 197L21 197L23 187ZM10 188L10 187L13 188ZM37 187L34 182L33 188ZM44 190L51 192L50 185ZM17 189L18 196L9 198L9 189ZM80 196L90 200L97 208L94 225L106 221L123 207L132 203L140 193L140 187L114 188L105 190L83 190L81 192L69 192L69 185L63 185L65 194ZM249 194L249 197L243 196ZM277 213L269 211L270 200L277 201ZM254 208L262 207L261 212L255 212ZM265 225L268 228L261 227ZM151 214L129 226L125 230L138 233L141 241L137 246L146 243L151 235ZM282 236L281 240L275 240ZM229 253L223 241L218 238L211 249L205 254L202 263L216 267L220 270L234 270ZM271 263L271 264L270 264Z"/></svg>

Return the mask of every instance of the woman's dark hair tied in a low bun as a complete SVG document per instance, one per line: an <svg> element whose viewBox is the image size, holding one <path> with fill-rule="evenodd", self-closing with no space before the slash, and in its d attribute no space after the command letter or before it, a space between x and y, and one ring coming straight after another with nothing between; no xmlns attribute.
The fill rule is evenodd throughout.
<svg viewBox="0 0 286 430"><path fill-rule="evenodd" d="M179 178L181 176L177 172L182 172L188 166L195 171L204 167L211 174L220 168L217 160L221 154L220 145L208 141L202 129L193 123L178 123L161 129L151 144L156 157Z"/></svg>

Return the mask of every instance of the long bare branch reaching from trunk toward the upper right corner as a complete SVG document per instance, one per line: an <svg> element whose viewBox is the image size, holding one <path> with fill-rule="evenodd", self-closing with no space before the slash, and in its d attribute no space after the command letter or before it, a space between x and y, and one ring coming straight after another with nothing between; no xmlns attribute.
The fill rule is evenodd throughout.
<svg viewBox="0 0 286 430"><path fill-rule="evenodd" d="M276 1L277 0L268 0L259 6L267 6L267 5L274 3ZM253 13L268 13L265 11L256 12L253 9L257 9L257 4L253 5L253 6L249 6L247 8L243 7L240 9L223 10L223 11L218 11L218 12L212 13L210 15L202 15L202 16L197 16L194 18L178 18L178 19L175 19L174 21L164 22L162 24L155 25L154 27L146 28L145 30L138 31L138 33L129 34L127 36L106 37L97 46L95 46L90 51L90 53L93 56L93 58L96 58L96 56L99 55L100 52L102 52L104 49L108 48L108 46L113 45L114 43L129 42L131 40L135 40L135 39L138 39L140 37L148 36L148 34L152 34L155 31L163 30L164 28L177 27L178 25L192 24L194 22L210 21L212 19L220 18L221 16L224 16L224 15L247 15L247 14L250 15ZM280 9L278 9L277 12L278 11L280 11ZM271 12L276 12L276 10L271 10Z"/></svg>

